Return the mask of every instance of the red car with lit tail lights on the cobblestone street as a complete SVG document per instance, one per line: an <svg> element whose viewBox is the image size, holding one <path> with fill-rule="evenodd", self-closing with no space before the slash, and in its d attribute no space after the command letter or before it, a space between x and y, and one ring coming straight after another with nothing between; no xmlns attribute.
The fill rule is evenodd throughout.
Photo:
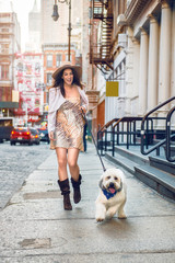
<svg viewBox="0 0 175 263"><path fill-rule="evenodd" d="M20 145L22 144L27 144L28 146L33 145L33 135L27 127L16 127L11 132L10 135L10 144L15 145L19 142Z"/></svg>

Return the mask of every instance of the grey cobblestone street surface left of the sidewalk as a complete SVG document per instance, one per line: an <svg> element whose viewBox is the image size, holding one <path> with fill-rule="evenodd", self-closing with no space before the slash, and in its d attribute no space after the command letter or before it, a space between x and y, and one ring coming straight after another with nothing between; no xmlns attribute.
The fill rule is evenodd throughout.
<svg viewBox="0 0 175 263"><path fill-rule="evenodd" d="M0 210L24 180L50 155L49 146L0 145Z"/></svg>

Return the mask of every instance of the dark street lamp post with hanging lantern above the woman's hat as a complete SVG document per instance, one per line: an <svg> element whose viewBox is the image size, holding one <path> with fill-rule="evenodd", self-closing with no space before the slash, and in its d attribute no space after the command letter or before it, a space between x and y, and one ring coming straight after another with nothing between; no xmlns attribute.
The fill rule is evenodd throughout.
<svg viewBox="0 0 175 263"><path fill-rule="evenodd" d="M71 0L55 0L54 4L54 12L51 18L54 21L57 21L59 19L59 13L58 13L58 5L57 1L60 3L67 3L69 4L69 25L68 25L68 60L70 61L70 41L71 41Z"/></svg>

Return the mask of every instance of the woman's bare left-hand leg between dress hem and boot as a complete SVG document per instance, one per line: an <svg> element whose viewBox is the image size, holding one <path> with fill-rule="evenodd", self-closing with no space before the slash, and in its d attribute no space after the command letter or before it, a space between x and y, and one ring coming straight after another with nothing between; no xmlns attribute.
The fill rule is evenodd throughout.
<svg viewBox="0 0 175 263"><path fill-rule="evenodd" d="M58 160L58 178L60 181L68 179L67 172L67 149L56 148L57 160Z"/></svg>

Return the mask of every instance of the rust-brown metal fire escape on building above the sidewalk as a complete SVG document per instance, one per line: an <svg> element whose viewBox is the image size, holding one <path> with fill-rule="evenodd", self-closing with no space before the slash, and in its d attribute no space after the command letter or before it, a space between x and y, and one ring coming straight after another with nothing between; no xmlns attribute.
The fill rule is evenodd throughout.
<svg viewBox="0 0 175 263"><path fill-rule="evenodd" d="M112 53L113 1L93 0L91 4L90 62L106 73L113 69L114 61Z"/></svg>

